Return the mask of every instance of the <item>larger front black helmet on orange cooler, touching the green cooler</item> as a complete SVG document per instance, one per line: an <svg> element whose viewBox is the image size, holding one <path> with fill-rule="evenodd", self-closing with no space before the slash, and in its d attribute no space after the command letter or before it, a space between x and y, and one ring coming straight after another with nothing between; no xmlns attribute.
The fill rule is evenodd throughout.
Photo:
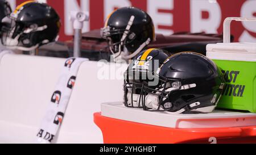
<svg viewBox="0 0 256 155"><path fill-rule="evenodd" d="M158 69L159 85L143 86L140 98L147 111L171 114L209 113L217 106L224 76L209 58L193 52L177 53Z"/></svg>

